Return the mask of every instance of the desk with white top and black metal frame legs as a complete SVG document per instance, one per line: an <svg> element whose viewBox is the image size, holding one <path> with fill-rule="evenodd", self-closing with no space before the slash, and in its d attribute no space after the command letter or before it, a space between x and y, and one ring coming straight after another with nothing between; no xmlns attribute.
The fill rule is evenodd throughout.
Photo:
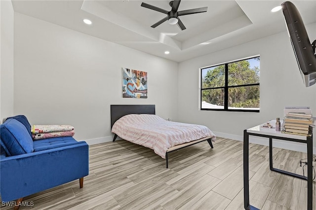
<svg viewBox="0 0 316 210"><path fill-rule="evenodd" d="M271 125L276 124L276 120L270 121ZM249 136L258 136L269 138L269 159L270 170L281 173L284 175L290 175L293 177L307 180L307 209L312 210L313 206L313 136L305 137L292 134L282 134L280 131L271 128L263 128L261 125L249 128L243 131L243 195L244 195L244 208L245 210L258 210L257 208L249 204ZM293 174L280 169L273 168L272 157L272 143L273 139L295 141L307 144L307 177L302 175Z"/></svg>

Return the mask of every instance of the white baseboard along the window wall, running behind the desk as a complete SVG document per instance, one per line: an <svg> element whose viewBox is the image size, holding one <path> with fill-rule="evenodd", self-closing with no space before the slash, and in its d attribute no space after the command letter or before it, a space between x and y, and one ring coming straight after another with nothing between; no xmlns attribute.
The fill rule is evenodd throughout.
<svg viewBox="0 0 316 210"><path fill-rule="evenodd" d="M232 139L232 140L240 140L243 141L243 136L233 135L233 134L225 134L221 132L213 132L217 137ZM263 137L249 137L250 143L256 143L260 145L269 146L269 139ZM285 141L285 140L273 140L273 147L288 149L298 152L307 152L307 147L305 143L293 142L293 141ZM316 154L316 147L313 147L313 154Z"/></svg>

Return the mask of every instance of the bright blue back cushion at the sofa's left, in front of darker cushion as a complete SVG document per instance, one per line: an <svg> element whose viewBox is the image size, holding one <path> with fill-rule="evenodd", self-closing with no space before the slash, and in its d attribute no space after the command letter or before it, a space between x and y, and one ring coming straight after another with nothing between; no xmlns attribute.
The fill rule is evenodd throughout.
<svg viewBox="0 0 316 210"><path fill-rule="evenodd" d="M33 152L33 140L26 127L10 118L0 126L1 146L8 156Z"/></svg>

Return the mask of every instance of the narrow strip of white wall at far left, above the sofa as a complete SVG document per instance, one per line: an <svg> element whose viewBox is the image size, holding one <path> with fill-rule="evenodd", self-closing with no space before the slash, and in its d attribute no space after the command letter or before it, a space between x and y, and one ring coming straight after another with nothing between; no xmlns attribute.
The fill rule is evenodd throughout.
<svg viewBox="0 0 316 210"><path fill-rule="evenodd" d="M10 0L0 0L0 122L13 115L13 20Z"/></svg>

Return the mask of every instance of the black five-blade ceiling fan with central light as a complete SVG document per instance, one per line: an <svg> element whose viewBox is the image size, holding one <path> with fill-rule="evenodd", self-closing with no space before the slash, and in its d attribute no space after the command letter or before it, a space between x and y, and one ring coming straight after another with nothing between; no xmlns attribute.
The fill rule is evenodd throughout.
<svg viewBox="0 0 316 210"><path fill-rule="evenodd" d="M180 20L179 16L182 15L190 15L190 14L195 14L195 13L200 13L200 12L206 12L207 11L207 6L206 7L200 7L196 9L187 9L187 10L182 10L178 11L179 4L181 0L172 0L169 2L169 5L172 7L171 11L167 11L164 9L161 9L157 6L150 5L148 3L142 2L141 6L146 7L148 9L152 9L158 12L162 12L164 14L167 14L167 16L161 20L159 20L157 23L152 25L152 28L156 28L159 26L161 23L168 21L169 24L175 25L177 24L181 30L185 30L186 27L183 25L182 21Z"/></svg>

